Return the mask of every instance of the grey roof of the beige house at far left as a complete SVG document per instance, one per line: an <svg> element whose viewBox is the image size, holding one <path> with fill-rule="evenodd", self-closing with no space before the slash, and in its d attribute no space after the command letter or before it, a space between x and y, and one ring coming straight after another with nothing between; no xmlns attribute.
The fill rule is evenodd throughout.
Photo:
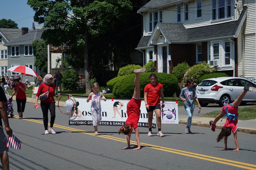
<svg viewBox="0 0 256 170"><path fill-rule="evenodd" d="M0 34L7 41L10 42L21 36L21 29L11 29L11 28L0 28Z"/></svg>

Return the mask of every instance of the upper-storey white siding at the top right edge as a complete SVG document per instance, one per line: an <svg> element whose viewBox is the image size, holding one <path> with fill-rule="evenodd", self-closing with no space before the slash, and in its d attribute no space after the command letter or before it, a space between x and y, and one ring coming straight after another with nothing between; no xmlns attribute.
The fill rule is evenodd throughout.
<svg viewBox="0 0 256 170"><path fill-rule="evenodd" d="M244 33L255 34L255 1L253 4L247 5L246 28Z"/></svg>

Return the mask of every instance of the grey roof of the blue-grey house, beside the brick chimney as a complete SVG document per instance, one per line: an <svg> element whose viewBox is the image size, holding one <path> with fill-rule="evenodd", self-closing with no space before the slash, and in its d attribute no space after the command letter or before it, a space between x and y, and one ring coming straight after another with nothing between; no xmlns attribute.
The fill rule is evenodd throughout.
<svg viewBox="0 0 256 170"><path fill-rule="evenodd" d="M37 39L42 40L41 35L42 35L43 31L44 30L32 30L27 34L20 36L20 37L16 38L15 40L4 44L4 46L31 44L34 40L37 40Z"/></svg>

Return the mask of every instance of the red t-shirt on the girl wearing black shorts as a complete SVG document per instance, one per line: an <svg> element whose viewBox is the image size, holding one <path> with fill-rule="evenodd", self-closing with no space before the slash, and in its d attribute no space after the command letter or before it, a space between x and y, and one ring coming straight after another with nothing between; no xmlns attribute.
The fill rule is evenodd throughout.
<svg viewBox="0 0 256 170"><path fill-rule="evenodd" d="M147 91L147 104L149 106L156 106L160 104L160 89L163 85L156 83L155 85L147 84L144 91Z"/></svg>

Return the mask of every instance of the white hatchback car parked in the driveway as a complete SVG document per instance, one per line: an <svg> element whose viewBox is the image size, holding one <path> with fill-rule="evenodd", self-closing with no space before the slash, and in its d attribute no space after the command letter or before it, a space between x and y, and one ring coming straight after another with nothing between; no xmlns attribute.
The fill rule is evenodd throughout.
<svg viewBox="0 0 256 170"><path fill-rule="evenodd" d="M201 106L209 103L224 106L236 100L244 86L256 87L256 84L239 77L216 77L202 80L196 87L196 94ZM247 102L256 102L255 93L246 93L241 104Z"/></svg>

